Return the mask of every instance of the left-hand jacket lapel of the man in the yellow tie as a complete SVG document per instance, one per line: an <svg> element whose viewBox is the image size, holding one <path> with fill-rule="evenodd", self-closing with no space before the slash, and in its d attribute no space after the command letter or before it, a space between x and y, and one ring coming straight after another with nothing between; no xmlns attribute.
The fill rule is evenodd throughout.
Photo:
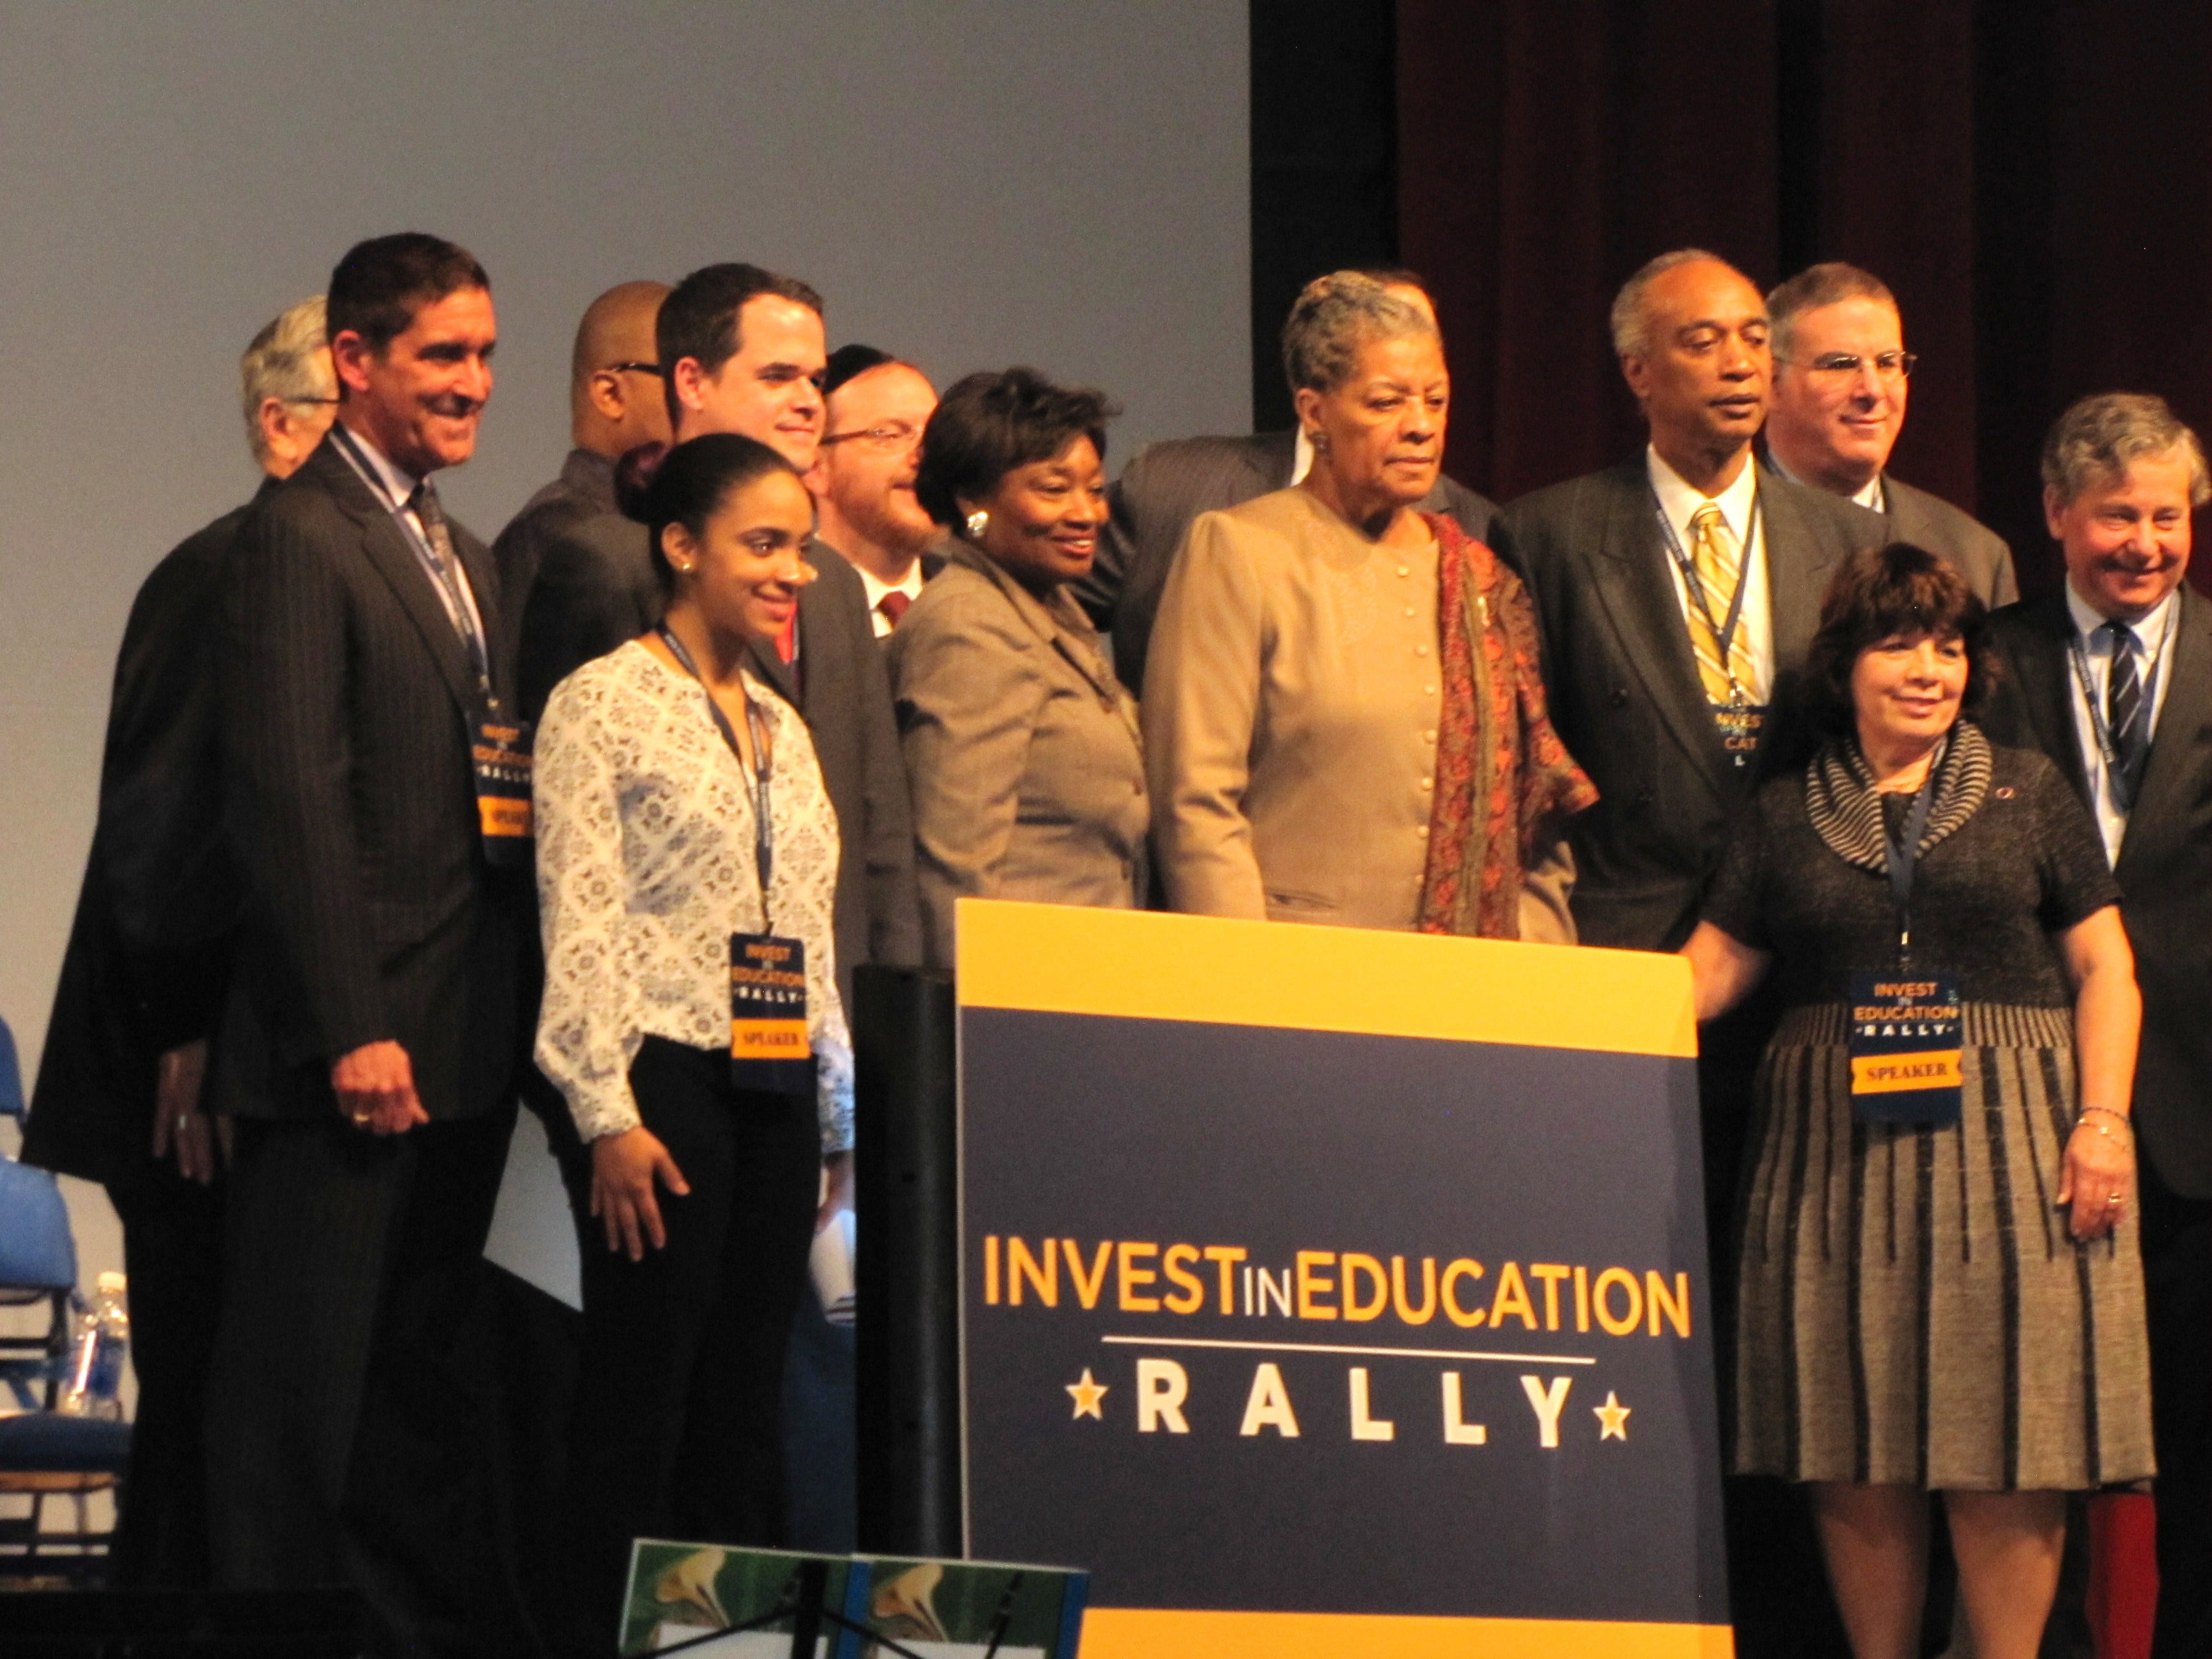
<svg viewBox="0 0 2212 1659"><path fill-rule="evenodd" d="M1714 794L1725 796L1728 754L1697 677L1690 628L1681 619L1681 599L1668 573L1666 531L1659 529L1659 504L1641 456L1606 476L1604 511L1593 575L1606 615L1613 617L1613 633L1683 754Z"/></svg>

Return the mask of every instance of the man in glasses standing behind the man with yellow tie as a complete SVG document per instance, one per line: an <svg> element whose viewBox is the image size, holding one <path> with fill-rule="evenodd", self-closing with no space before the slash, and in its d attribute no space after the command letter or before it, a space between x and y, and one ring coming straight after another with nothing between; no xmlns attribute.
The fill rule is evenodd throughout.
<svg viewBox="0 0 2212 1659"><path fill-rule="evenodd" d="M1887 471L1913 372L1889 288L1858 265L1809 265L1767 294L1767 469L1882 513L1891 542L1951 560L1982 604L2017 599L2013 551L2002 535Z"/></svg>

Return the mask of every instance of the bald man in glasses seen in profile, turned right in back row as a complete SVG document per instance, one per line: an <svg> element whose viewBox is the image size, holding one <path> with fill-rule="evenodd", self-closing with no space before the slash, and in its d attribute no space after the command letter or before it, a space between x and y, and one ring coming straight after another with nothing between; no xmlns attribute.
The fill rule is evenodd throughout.
<svg viewBox="0 0 2212 1659"><path fill-rule="evenodd" d="M568 354L568 460L562 462L560 478L522 502L522 511L507 520L500 540L491 544L509 626L515 630L546 546L584 520L615 511L617 460L637 445L668 442L668 400L661 396L661 365L653 345L653 319L666 296L668 283L615 283L584 307L584 319L575 325L575 347ZM540 668L529 659L515 668L531 719L553 690L551 681L538 684Z"/></svg>

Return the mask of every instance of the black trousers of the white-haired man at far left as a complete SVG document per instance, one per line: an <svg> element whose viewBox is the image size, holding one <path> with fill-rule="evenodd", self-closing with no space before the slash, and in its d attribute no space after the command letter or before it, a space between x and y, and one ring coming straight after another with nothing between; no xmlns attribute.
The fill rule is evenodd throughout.
<svg viewBox="0 0 2212 1659"><path fill-rule="evenodd" d="M131 1480L115 1517L111 1573L128 1590L204 1590L208 1564L208 1365L223 1294L226 1183L175 1164L108 1183L131 1276Z"/></svg>

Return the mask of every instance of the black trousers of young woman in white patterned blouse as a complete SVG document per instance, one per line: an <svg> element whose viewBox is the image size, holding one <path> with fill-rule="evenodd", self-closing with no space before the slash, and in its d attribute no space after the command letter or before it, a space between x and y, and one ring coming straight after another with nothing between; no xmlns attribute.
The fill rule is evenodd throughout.
<svg viewBox="0 0 2212 1659"><path fill-rule="evenodd" d="M630 1540L779 1542L783 1356L821 1186L814 1097L737 1091L728 1053L646 1037L630 1093L690 1194L657 1194L668 1245L644 1261L577 1223L568 1641L591 1655L615 1652Z"/></svg>

